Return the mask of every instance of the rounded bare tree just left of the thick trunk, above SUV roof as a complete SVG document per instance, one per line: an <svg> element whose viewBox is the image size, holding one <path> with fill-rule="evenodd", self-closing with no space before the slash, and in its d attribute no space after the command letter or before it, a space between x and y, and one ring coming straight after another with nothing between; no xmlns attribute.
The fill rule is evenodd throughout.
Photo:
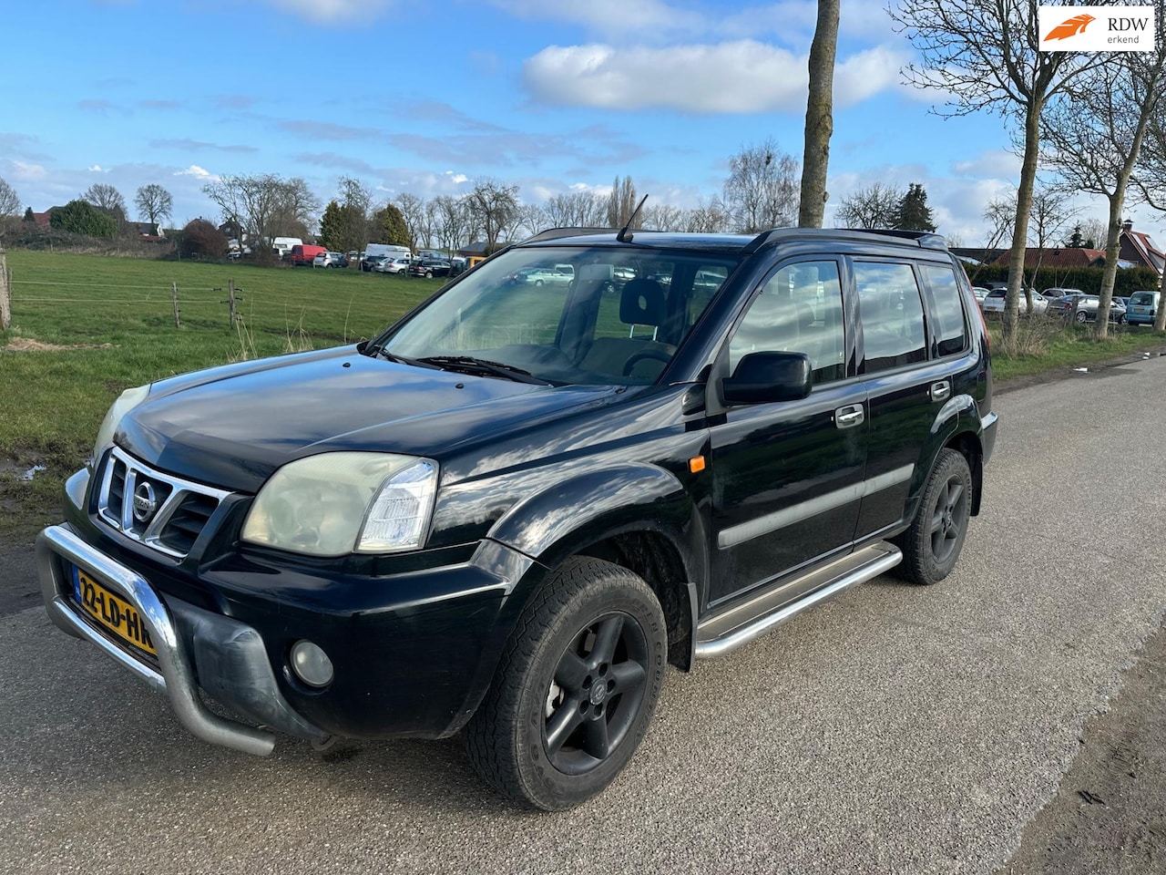
<svg viewBox="0 0 1166 875"><path fill-rule="evenodd" d="M798 217L798 162L772 136L745 146L729 159L722 209L735 230L746 233L784 228ZM824 188L824 186L823 186Z"/></svg>

